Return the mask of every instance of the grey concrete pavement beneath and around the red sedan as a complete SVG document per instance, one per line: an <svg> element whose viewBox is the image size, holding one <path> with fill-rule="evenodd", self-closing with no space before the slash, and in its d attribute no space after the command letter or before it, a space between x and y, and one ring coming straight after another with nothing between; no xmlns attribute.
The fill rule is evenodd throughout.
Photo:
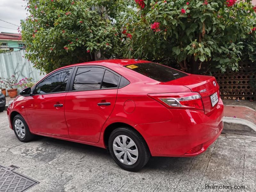
<svg viewBox="0 0 256 192"><path fill-rule="evenodd" d="M28 191L256 191L256 137L221 134L202 155L153 157L140 172L120 169L105 149L38 137L16 139L0 113L0 165L40 183ZM245 189L205 189L245 186ZM213 187L213 186L212 186Z"/></svg>

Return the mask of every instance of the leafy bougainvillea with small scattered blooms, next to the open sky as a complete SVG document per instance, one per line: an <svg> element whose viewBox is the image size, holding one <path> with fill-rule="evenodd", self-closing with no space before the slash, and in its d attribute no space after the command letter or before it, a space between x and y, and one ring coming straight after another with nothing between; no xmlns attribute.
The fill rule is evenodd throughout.
<svg viewBox="0 0 256 192"><path fill-rule="evenodd" d="M117 21L127 7L125 0L27 0L28 17L21 22L26 58L50 72L94 60L95 51L117 54L124 36Z"/></svg>

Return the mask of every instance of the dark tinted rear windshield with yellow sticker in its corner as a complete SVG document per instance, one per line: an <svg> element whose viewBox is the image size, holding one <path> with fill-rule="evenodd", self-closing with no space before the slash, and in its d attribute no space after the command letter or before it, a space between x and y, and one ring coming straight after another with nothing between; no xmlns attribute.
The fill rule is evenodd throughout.
<svg viewBox="0 0 256 192"><path fill-rule="evenodd" d="M179 79L180 77L188 76L186 73L157 63L136 63L125 65L124 67L160 82L168 82L174 79Z"/></svg>

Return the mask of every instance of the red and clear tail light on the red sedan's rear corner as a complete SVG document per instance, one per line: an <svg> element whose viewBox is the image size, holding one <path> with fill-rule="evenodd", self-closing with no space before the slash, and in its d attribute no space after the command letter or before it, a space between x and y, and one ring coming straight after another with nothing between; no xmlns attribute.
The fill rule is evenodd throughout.
<svg viewBox="0 0 256 192"><path fill-rule="evenodd" d="M197 92L150 93L149 97L167 108L186 108L204 110L202 97Z"/></svg>

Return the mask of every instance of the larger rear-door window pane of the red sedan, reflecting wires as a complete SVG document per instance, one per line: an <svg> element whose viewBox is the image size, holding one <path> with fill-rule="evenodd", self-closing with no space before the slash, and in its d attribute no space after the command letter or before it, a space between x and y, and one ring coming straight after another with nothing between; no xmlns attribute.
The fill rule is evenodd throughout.
<svg viewBox="0 0 256 192"><path fill-rule="evenodd" d="M81 67L77 69L73 91L100 89L104 69L99 67Z"/></svg>

